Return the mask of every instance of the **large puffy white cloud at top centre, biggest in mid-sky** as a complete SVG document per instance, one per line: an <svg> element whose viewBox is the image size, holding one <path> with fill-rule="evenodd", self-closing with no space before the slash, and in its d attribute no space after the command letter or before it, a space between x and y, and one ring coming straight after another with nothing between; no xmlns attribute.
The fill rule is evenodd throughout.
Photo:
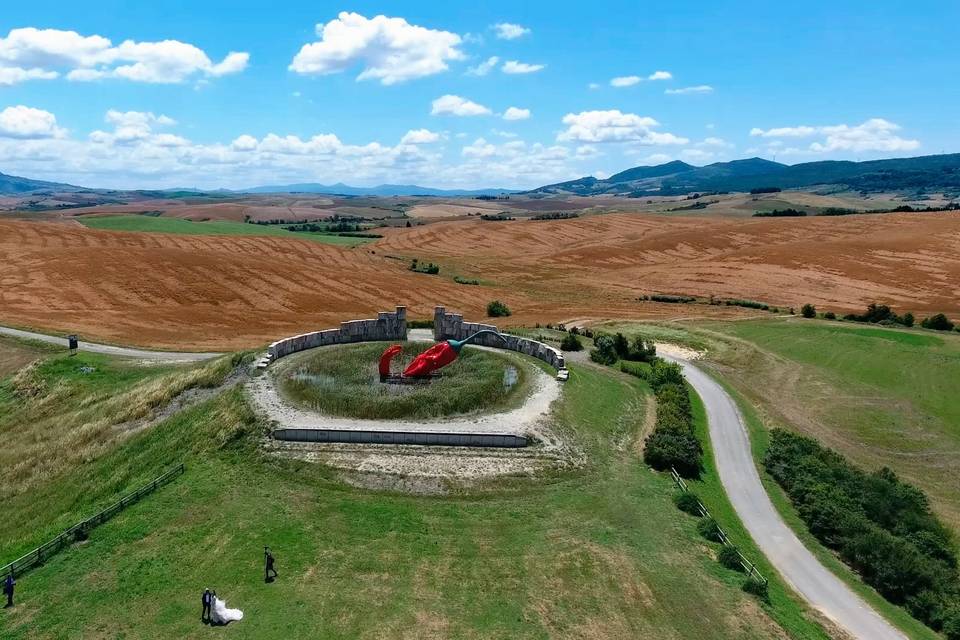
<svg viewBox="0 0 960 640"><path fill-rule="evenodd" d="M341 73L357 65L357 80L379 80L391 85L430 76L448 69L448 62L464 58L456 33L413 25L403 18L378 15L366 18L343 11L316 27L320 40L303 45L290 70L305 75Z"/></svg>

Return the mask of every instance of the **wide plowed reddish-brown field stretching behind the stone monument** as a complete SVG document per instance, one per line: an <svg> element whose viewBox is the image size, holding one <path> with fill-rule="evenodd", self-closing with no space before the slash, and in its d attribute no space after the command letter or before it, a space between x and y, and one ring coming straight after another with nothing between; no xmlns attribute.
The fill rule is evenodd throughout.
<svg viewBox="0 0 960 640"><path fill-rule="evenodd" d="M166 348L230 349L406 304L510 323L749 313L647 293L821 309L960 312L960 215L731 220L637 214L437 223L362 248L0 221L0 323ZM440 276L403 260L439 262ZM460 274L491 286L454 284Z"/></svg>

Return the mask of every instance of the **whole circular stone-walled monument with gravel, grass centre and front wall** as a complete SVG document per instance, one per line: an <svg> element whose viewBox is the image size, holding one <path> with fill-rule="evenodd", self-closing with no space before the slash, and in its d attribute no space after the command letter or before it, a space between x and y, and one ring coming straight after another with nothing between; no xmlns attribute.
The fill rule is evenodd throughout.
<svg viewBox="0 0 960 640"><path fill-rule="evenodd" d="M378 361L410 371L449 344L454 360L427 376ZM575 463L551 412L563 355L443 307L432 331L408 330L397 307L277 341L258 366L249 388L271 425L268 450L351 484L443 493Z"/></svg>

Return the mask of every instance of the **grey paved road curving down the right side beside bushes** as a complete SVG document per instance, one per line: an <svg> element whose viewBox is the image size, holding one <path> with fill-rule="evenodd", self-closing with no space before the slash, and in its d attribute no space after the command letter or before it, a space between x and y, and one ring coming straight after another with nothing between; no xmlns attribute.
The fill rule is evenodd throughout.
<svg viewBox="0 0 960 640"><path fill-rule="evenodd" d="M812 606L861 640L906 640L814 557L783 522L760 482L750 439L733 399L689 361L679 362L703 399L720 481L757 546Z"/></svg>

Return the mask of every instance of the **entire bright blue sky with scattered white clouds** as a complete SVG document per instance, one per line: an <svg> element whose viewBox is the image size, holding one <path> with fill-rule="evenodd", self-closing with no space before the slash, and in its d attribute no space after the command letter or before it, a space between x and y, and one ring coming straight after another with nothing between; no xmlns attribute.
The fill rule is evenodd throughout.
<svg viewBox="0 0 960 640"><path fill-rule="evenodd" d="M706 4L5 3L0 171L521 188L960 151L960 3Z"/></svg>

